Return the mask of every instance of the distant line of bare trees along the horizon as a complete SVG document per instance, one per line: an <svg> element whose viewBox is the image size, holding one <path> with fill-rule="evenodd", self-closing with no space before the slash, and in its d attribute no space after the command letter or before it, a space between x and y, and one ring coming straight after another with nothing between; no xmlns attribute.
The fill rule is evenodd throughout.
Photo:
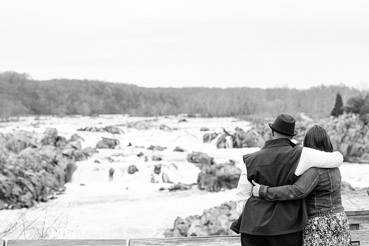
<svg viewBox="0 0 369 246"><path fill-rule="evenodd" d="M304 112L323 117L331 114L337 93L342 95L344 103L348 98L360 95L360 91L346 86L319 86L307 90L145 88L89 80L38 81L27 74L3 72L0 73L0 117L30 114L156 116L179 113L237 117L275 116L280 112L292 115ZM364 101L369 105L369 99Z"/></svg>

